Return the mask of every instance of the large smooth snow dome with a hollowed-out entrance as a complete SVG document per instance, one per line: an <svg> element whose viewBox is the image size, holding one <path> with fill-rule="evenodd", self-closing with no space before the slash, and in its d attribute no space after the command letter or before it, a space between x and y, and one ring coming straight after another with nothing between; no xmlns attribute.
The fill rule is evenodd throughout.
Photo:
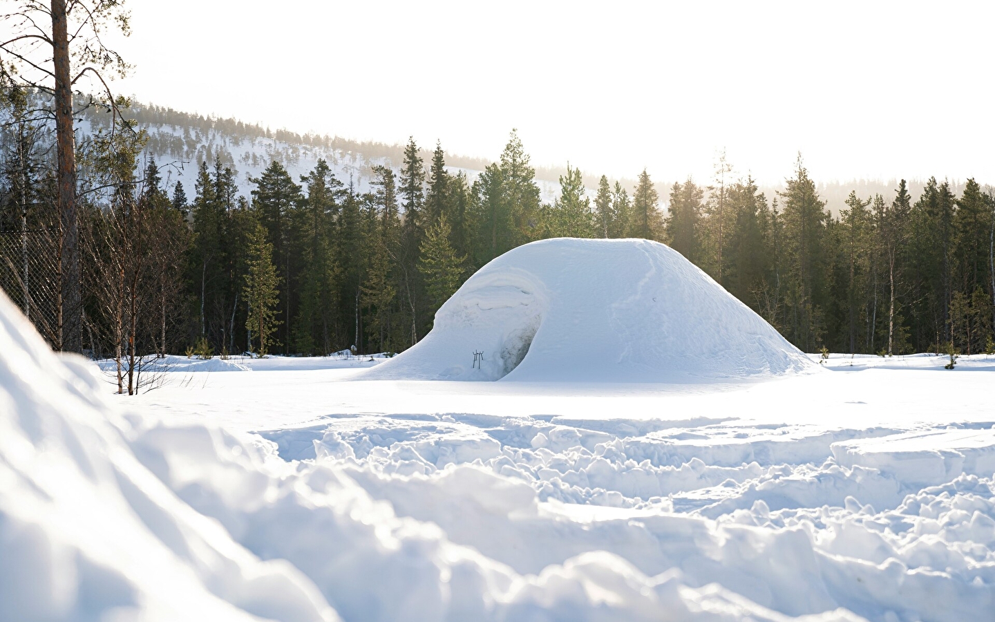
<svg viewBox="0 0 995 622"><path fill-rule="evenodd" d="M558 238L482 268L421 342L363 378L694 383L813 367L677 251Z"/></svg>

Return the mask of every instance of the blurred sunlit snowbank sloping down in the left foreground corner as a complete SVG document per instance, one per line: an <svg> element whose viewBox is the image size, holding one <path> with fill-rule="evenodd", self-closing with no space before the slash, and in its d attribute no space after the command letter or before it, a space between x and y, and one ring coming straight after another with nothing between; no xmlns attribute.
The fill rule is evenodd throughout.
<svg viewBox="0 0 995 622"><path fill-rule="evenodd" d="M0 620L339 619L137 460L95 372L0 292Z"/></svg>

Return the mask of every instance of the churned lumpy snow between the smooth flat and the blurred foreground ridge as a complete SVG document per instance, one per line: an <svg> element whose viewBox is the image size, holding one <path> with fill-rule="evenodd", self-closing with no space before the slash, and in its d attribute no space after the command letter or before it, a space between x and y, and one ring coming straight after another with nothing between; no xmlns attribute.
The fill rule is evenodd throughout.
<svg viewBox="0 0 995 622"><path fill-rule="evenodd" d="M601 549L648 576L679 568L687 585L717 582L786 615L845 607L874 620L956 620L993 604L991 471L920 489L914 472L837 464L832 453L849 441L836 439L868 431L809 430L815 463L783 462L794 443L760 443L761 466L683 443L694 428L648 438L527 417L412 419L264 436L285 453L313 437L319 462L343 464L396 513L522 573ZM964 431L995 447L992 430ZM870 434L883 445L908 436Z"/></svg>

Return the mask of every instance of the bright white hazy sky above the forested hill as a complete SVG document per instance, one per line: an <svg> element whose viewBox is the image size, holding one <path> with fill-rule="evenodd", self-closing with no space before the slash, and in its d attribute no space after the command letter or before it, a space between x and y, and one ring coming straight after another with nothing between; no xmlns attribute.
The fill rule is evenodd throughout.
<svg viewBox="0 0 995 622"><path fill-rule="evenodd" d="M995 181L995 3L128 2L140 101L536 164Z"/></svg>

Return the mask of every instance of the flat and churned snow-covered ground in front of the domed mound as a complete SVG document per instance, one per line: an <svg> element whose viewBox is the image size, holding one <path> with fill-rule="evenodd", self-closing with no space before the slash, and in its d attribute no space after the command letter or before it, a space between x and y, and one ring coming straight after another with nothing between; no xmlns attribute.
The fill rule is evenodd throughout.
<svg viewBox="0 0 995 622"><path fill-rule="evenodd" d="M945 362L832 354L823 373L704 388L372 381L368 359L275 357L178 371L127 403L156 422L132 446L157 461L209 461L177 449L193 430L299 461L255 489L266 502L241 482L258 467L228 456L162 477L344 619L992 619L995 357ZM386 502L389 529L355 497ZM382 550L354 540L369 520L392 534ZM443 541L527 583L530 613L476 574L457 589ZM470 615L467 591L494 603ZM431 607L407 610L416 597Z"/></svg>

